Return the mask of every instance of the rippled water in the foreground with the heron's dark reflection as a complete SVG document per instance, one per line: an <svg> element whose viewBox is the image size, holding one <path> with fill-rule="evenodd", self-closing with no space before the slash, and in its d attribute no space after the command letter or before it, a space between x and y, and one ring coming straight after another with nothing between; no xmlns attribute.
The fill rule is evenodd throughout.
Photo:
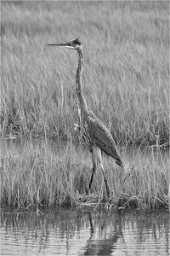
<svg viewBox="0 0 170 256"><path fill-rule="evenodd" d="M169 213L1 212L1 255L169 255Z"/></svg>

